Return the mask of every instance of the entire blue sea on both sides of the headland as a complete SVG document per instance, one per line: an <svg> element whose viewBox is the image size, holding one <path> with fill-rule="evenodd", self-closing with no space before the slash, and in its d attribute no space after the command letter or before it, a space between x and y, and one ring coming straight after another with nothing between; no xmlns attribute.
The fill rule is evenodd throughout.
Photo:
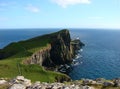
<svg viewBox="0 0 120 89"><path fill-rule="evenodd" d="M11 42L27 40L60 29L0 30L0 49ZM85 46L78 52L68 74L73 80L82 78L114 79L120 77L120 30L70 29L72 39L80 38Z"/></svg>

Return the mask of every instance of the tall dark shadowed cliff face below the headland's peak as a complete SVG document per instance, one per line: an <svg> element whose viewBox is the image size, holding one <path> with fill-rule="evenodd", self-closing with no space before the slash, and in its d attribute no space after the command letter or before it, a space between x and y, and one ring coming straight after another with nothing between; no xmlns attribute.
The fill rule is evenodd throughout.
<svg viewBox="0 0 120 89"><path fill-rule="evenodd" d="M68 30L62 30L51 37L51 60L54 64L61 65L72 61L70 50L70 34Z"/></svg>

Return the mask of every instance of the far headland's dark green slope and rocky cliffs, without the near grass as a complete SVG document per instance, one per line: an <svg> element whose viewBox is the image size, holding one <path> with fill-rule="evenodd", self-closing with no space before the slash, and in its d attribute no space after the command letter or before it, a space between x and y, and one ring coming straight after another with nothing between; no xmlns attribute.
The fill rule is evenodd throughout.
<svg viewBox="0 0 120 89"><path fill-rule="evenodd" d="M26 41L11 43L0 50L0 59L14 56L20 52L28 52L28 50L36 47L42 47L33 53L27 53L29 57L23 63L39 64L41 66L68 64L75 56L76 50L79 50L83 45L80 40L71 41L70 33L65 29Z"/></svg>

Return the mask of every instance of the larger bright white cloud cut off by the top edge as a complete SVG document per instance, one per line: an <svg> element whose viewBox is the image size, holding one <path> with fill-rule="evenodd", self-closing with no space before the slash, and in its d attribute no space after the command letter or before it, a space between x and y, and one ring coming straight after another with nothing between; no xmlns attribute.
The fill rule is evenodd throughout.
<svg viewBox="0 0 120 89"><path fill-rule="evenodd" d="M90 0L52 0L54 3L66 8L69 5L90 4Z"/></svg>

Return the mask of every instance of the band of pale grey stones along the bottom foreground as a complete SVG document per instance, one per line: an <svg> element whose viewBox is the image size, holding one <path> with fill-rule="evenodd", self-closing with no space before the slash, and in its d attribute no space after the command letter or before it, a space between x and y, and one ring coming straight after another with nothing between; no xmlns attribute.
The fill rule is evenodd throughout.
<svg viewBox="0 0 120 89"><path fill-rule="evenodd" d="M70 82L40 82L32 83L24 76L17 76L14 79L1 78L0 89L120 89L120 78L105 80L98 78L95 80L81 79Z"/></svg>

